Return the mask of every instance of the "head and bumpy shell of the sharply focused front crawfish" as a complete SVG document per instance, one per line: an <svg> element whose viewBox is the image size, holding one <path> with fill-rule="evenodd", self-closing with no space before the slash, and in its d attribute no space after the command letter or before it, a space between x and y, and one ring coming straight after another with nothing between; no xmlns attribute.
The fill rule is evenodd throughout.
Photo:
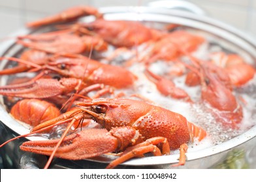
<svg viewBox="0 0 256 182"><path fill-rule="evenodd" d="M114 127L131 126L143 140L156 136L167 138L170 149L189 142L187 120L181 114L144 101L133 99L92 99L78 107L108 131Z"/></svg>

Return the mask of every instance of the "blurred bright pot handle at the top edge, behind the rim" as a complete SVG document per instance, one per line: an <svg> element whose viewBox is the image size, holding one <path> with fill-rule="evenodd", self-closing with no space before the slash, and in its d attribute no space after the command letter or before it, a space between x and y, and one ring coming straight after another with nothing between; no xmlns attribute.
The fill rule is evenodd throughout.
<svg viewBox="0 0 256 182"><path fill-rule="evenodd" d="M174 10L183 10L187 12L192 12L194 14L206 15L206 12L202 10L199 6L189 2L189 1L181 1L181 0L164 0L164 1L153 1L148 3L148 6L154 8L168 8Z"/></svg>

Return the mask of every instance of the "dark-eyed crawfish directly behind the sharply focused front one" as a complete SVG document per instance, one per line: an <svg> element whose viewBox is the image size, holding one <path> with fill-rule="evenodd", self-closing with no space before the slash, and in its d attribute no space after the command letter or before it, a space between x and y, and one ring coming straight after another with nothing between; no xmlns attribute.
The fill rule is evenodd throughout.
<svg viewBox="0 0 256 182"><path fill-rule="evenodd" d="M50 70L63 77L82 79L87 85L99 83L114 86L115 88L128 88L131 87L137 79L133 73L120 66L103 64L97 60L83 57L82 55L63 54L63 56L71 57L54 57L54 61L43 66L31 64L30 62L21 59L1 59L14 60L24 64L27 63L37 68L37 70Z"/></svg>

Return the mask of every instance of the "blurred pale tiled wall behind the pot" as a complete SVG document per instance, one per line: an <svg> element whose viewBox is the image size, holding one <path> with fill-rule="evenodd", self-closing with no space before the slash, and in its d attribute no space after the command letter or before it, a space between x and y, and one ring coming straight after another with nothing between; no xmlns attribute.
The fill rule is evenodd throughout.
<svg viewBox="0 0 256 182"><path fill-rule="evenodd" d="M256 0L187 1L195 3L205 10L208 16L229 23L229 25L256 36ZM144 6L150 2L152 0L0 0L0 38L4 38L11 32L23 27L28 21L48 16L74 5L91 5L96 7Z"/></svg>

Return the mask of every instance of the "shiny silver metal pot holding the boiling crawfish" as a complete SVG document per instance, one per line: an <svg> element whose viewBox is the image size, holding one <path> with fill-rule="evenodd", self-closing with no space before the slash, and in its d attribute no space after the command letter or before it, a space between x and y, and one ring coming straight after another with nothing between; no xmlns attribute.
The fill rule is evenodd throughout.
<svg viewBox="0 0 256 182"><path fill-rule="evenodd" d="M125 19L125 20L134 20L134 21L144 21L144 22L154 22L154 23L176 23L191 27L192 29L197 29L204 34L210 34L210 36L216 38L216 44L219 44L223 47L229 47L232 51L236 51L245 55L248 58L248 61L252 64L256 64L256 44L253 41L253 38L245 34L244 32L238 31L234 27L231 27L221 21L216 19L203 16L202 13L194 14L191 12L184 12L181 10L170 10L166 8L153 8L150 6L114 6L114 7L104 7L99 8L100 12L104 14L105 19ZM25 34L30 32L27 29L22 29L14 35ZM1 56L15 56L20 51L21 47L14 45L14 41L10 40L1 44L0 55ZM1 62L0 68L3 69L8 62ZM5 84L6 77L1 78L1 84ZM3 103L3 102L2 102ZM3 140L12 137L12 135L22 135L28 131L24 129L22 125L14 121L10 115L5 110L5 106L1 105L1 122L4 123L3 129L7 134L6 137L3 137ZM9 133L12 132L11 136ZM185 166L180 166L179 168L211 168L217 163L226 159L227 155L231 151L242 151L242 155L246 156L243 160L247 160L250 166L249 168L256 168L256 161L250 161L253 159L252 155L256 155L256 148L254 146L256 142L256 126L251 127L248 131L238 135L231 140L217 144L210 148L200 149L199 151L192 151L187 153L187 162ZM42 138L30 137L29 140L40 140ZM1 141L3 142L3 141ZM19 142L18 142L19 143ZM16 147L15 147L16 148ZM8 144L5 148L4 154L5 157L9 156L9 151L14 149L14 143ZM16 162L24 162L27 157L27 153L21 152L19 149L15 149L17 153L20 153L18 156L14 157ZM254 153L254 154L253 154ZM24 157L25 155L25 157ZM3 157L3 156L2 156ZM27 158L26 158L27 157ZM37 156L38 157L38 156ZM33 160L35 155L32 156ZM132 159L130 161L124 162L118 168L170 168L171 163L176 163L179 155L167 155L161 157L146 157L140 159ZM40 158L40 157L39 157ZM21 159L21 160L20 160ZM19 161L20 160L20 161ZM33 161L32 160L32 161ZM42 158L40 158L42 160ZM108 162L112 160L111 157L101 156L89 159L86 161L65 161L59 160L54 162L53 168L104 168ZM8 160L7 160L8 161ZM34 160L37 161L37 160ZM14 165L9 166L10 168L19 168L20 166ZM22 166L22 168L25 166ZM237 166L240 168L240 166Z"/></svg>

